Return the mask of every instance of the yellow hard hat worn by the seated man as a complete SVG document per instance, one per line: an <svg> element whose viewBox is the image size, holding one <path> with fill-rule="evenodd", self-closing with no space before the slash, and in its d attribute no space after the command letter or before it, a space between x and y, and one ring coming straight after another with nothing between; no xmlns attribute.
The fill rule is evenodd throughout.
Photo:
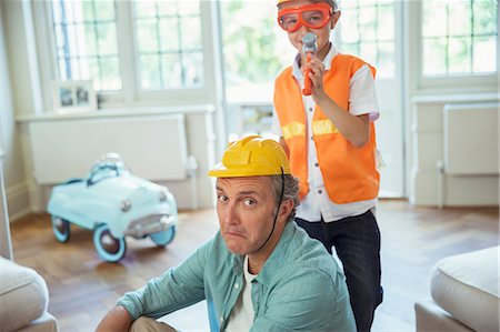
<svg viewBox="0 0 500 332"><path fill-rule="evenodd" d="M290 164L277 141L249 135L229 144L222 162L208 174L214 178L290 174Z"/></svg>

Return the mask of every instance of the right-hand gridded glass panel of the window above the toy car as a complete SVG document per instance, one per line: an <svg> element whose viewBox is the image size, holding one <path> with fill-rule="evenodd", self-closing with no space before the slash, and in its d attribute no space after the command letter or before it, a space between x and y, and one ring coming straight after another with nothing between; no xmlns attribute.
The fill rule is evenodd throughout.
<svg viewBox="0 0 500 332"><path fill-rule="evenodd" d="M200 1L134 1L144 90L203 84Z"/></svg>

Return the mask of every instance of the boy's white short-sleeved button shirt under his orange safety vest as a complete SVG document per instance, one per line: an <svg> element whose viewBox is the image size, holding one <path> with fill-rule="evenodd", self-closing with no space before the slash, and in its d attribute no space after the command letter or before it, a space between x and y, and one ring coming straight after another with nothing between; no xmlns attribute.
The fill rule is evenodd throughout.
<svg viewBox="0 0 500 332"><path fill-rule="evenodd" d="M326 70L331 69L331 61L338 54L332 44L323 64ZM303 89L303 76L299 67L300 54L297 54L292 64L292 74ZM316 103L311 95L303 95L304 112L307 114L307 130L312 132L311 123L314 115ZM352 76L349 83L349 112L353 115L369 114L370 121L379 118L379 107L374 90L374 80L368 64L362 66ZM277 112L272 114L272 133L282 137L281 125ZM318 153L312 139L308 140L308 183L309 192L297 208L297 218L308 221L320 221L321 217L326 222L332 222L347 217L358 215L367 212L376 205L377 199L359 201L347 204L336 204L328 197L324 188L323 175L318 167Z"/></svg>

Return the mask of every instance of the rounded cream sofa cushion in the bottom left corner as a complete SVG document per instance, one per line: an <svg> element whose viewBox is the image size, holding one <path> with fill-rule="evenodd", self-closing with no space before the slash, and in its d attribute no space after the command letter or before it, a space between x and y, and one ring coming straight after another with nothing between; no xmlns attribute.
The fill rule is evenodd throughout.
<svg viewBox="0 0 500 332"><path fill-rule="evenodd" d="M47 311L46 281L33 269L20 266L0 256L0 325L2 331L18 330Z"/></svg>

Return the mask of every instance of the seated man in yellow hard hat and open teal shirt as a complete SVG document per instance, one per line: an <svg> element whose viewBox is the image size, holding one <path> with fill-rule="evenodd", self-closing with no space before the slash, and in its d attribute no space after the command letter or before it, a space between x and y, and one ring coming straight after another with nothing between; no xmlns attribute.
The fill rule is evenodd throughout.
<svg viewBox="0 0 500 332"><path fill-rule="evenodd" d="M243 138L209 175L220 231L119 299L97 331L128 331L136 320L136 331L172 331L153 319L202 300L211 331L354 331L341 270L292 222L299 188L280 144Z"/></svg>

